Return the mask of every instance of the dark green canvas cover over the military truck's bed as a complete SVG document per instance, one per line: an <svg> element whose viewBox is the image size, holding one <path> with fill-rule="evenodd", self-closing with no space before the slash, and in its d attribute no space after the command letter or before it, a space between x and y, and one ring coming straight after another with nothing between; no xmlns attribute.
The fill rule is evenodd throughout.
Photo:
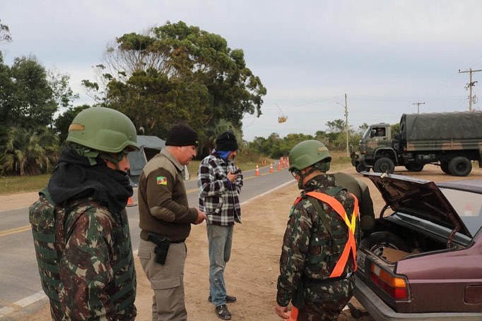
<svg viewBox="0 0 482 321"><path fill-rule="evenodd" d="M403 114L400 132L406 140L482 138L482 111Z"/></svg>

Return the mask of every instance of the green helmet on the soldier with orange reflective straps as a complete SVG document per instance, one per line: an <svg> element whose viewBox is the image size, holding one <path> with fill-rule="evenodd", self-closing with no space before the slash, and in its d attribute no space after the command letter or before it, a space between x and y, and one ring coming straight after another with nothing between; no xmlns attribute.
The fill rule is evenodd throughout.
<svg viewBox="0 0 482 321"><path fill-rule="evenodd" d="M315 165L322 171L329 170L331 156L328 148L319 140L305 140L290 150L290 171L302 170ZM319 163L324 161L321 166Z"/></svg>

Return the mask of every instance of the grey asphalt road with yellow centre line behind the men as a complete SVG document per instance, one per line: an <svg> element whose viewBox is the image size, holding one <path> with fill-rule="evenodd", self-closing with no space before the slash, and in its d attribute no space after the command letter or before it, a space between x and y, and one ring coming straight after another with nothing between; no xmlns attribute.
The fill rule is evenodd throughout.
<svg viewBox="0 0 482 321"><path fill-rule="evenodd" d="M266 193L273 188L293 181L287 169L274 169L272 173L269 166L255 170L245 171L244 187L240 195L241 202ZM196 180L185 181L189 206L197 206ZM134 190L132 198L137 204L137 193ZM138 207L127 207L129 227L132 235L132 246L137 250L139 246L139 212ZM44 297L40 277L37 271L35 250L33 248L32 234L28 222L28 207L5 210L0 212L0 319L6 320L8 314L18 310L18 306L28 306Z"/></svg>

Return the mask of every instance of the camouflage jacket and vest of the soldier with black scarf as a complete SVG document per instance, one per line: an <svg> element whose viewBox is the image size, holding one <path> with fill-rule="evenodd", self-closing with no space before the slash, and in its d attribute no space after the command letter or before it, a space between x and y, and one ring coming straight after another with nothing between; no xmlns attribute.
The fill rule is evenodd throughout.
<svg viewBox="0 0 482 321"><path fill-rule="evenodd" d="M88 199L30 206L42 287L53 320L134 320L136 271L125 210Z"/></svg>

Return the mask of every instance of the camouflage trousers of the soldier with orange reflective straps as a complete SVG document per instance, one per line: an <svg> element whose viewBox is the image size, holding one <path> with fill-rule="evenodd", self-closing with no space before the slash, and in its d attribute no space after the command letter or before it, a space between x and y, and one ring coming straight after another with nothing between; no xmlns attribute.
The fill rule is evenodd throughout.
<svg viewBox="0 0 482 321"><path fill-rule="evenodd" d="M335 321L353 296L353 276L327 285L305 285L297 321Z"/></svg>

